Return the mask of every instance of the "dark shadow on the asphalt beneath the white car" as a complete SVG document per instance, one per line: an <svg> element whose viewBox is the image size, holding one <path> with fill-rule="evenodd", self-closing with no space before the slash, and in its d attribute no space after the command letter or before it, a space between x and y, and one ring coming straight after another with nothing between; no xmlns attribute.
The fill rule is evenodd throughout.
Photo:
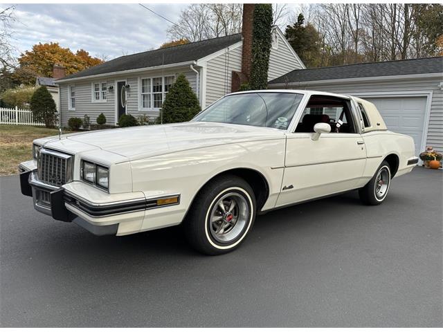
<svg viewBox="0 0 443 332"><path fill-rule="evenodd" d="M341 219L341 215L337 215L337 209L346 210L347 207L355 208L356 206L358 208L364 207L359 201L358 194L347 192L340 196L273 210L257 216L254 228L245 243L254 241L254 239L266 238L266 234L278 232L279 229L288 230L291 228L292 232L298 232L300 228L309 227L309 223L315 219L323 218L324 215L332 216L332 221L336 217ZM48 227L51 226L48 225ZM69 230L66 227L69 227ZM68 255L71 264L75 257L79 261L91 260L96 257L98 260L96 264L106 264L107 257L112 257L113 261L120 261L122 264L127 264L132 259L138 260L141 257L144 261L149 261L150 258L159 259L159 256L206 257L188 246L181 225L123 237L97 237L75 224L61 224L57 227L56 239L51 236L51 233L49 231L47 239L44 240L46 246L51 251L55 250L61 255Z"/></svg>

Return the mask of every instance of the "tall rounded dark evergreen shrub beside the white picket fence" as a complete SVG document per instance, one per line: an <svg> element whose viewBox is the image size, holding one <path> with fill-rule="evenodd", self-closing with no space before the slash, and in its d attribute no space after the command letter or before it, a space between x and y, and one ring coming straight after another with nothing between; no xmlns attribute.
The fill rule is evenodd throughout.
<svg viewBox="0 0 443 332"><path fill-rule="evenodd" d="M46 128L55 127L57 107L46 86L40 86L35 90L33 97L30 98L30 109L33 111L34 120L44 122Z"/></svg>

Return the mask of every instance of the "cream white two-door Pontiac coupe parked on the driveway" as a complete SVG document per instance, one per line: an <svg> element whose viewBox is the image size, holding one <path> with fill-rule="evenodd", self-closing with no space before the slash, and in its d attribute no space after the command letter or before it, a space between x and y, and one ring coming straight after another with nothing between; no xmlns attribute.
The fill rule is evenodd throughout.
<svg viewBox="0 0 443 332"><path fill-rule="evenodd" d="M414 154L370 102L266 90L226 95L190 122L38 139L19 169L21 192L53 219L116 235L182 224L217 255L262 212L348 190L382 203Z"/></svg>

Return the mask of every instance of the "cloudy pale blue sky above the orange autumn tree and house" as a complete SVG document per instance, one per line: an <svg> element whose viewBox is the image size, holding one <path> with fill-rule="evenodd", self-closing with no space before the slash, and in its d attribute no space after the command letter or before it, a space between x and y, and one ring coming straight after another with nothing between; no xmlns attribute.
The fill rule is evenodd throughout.
<svg viewBox="0 0 443 332"><path fill-rule="evenodd" d="M10 5L0 4L0 8ZM178 21L186 4L145 5L171 21ZM71 50L84 48L93 56L110 58L157 48L168 37L170 24L136 3L18 4L19 22L12 44L17 55L39 42L59 42Z"/></svg>

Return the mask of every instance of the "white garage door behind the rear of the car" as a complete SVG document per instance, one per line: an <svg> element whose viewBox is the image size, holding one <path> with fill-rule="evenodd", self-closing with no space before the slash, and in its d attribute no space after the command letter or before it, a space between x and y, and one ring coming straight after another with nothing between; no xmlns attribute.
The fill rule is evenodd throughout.
<svg viewBox="0 0 443 332"><path fill-rule="evenodd" d="M375 104L389 130L414 138L415 155L418 156L422 146L426 97L364 99Z"/></svg>

